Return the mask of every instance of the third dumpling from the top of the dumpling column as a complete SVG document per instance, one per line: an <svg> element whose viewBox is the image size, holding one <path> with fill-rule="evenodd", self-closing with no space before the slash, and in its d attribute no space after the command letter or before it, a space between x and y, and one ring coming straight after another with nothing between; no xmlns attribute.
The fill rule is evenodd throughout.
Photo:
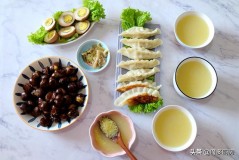
<svg viewBox="0 0 239 160"><path fill-rule="evenodd" d="M118 53L130 58L130 59L154 59L161 57L160 51L150 51L145 48L121 48Z"/></svg>

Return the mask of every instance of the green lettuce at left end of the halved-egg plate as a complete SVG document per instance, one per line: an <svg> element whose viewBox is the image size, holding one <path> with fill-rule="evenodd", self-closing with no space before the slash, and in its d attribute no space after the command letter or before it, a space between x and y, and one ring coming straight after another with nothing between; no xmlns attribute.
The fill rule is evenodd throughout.
<svg viewBox="0 0 239 160"><path fill-rule="evenodd" d="M47 34L47 31L43 26L41 26L36 32L31 33L27 36L28 41L33 44L45 44L44 37Z"/></svg>

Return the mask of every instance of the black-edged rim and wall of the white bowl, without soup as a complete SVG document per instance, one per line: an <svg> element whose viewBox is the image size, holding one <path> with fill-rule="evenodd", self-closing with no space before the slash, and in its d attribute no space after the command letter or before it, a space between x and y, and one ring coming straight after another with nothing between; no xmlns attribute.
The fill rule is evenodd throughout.
<svg viewBox="0 0 239 160"><path fill-rule="evenodd" d="M192 62L192 61L196 61L196 62L200 62L202 63L207 69L208 71L210 72L211 74L211 79L212 79L212 83L211 83L211 86L210 88L208 89L208 92L203 95L203 96L200 96L200 97L193 97L191 95L187 95L186 93L183 92L182 89L180 89L179 85L178 85L178 82L177 82L177 73L178 73L178 70L179 68L187 63L187 62ZM173 86L174 86L174 89L176 90L176 92L182 96L182 97L186 97L186 98L189 98L189 99L195 99L195 100L199 100L199 99L204 99L204 98L207 98L209 97L216 89L216 86L217 86L217 73L216 73L216 70L215 68L213 67L213 65L207 61L206 59L204 58L201 58L201 57L188 57L184 60L182 60L178 66L177 66L177 69L176 71L174 72L174 76L173 76Z"/></svg>

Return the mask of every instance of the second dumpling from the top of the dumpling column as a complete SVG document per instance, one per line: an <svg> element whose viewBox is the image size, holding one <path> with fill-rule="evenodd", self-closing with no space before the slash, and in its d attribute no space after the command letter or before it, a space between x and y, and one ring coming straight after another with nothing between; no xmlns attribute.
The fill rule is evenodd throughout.
<svg viewBox="0 0 239 160"><path fill-rule="evenodd" d="M126 46L130 47L141 47L141 48L147 48L147 49L153 49L158 46L160 46L163 41L161 39L138 39L138 38L133 38L133 39L126 39L123 38L120 41Z"/></svg>

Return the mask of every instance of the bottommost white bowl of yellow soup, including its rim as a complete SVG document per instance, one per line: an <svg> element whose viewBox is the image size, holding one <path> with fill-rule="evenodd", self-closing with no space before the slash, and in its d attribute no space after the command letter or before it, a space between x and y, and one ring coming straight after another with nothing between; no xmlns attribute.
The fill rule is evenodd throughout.
<svg viewBox="0 0 239 160"><path fill-rule="evenodd" d="M177 105L161 108L153 118L152 128L158 145L173 152L187 149L197 134L197 125L192 114Z"/></svg>

